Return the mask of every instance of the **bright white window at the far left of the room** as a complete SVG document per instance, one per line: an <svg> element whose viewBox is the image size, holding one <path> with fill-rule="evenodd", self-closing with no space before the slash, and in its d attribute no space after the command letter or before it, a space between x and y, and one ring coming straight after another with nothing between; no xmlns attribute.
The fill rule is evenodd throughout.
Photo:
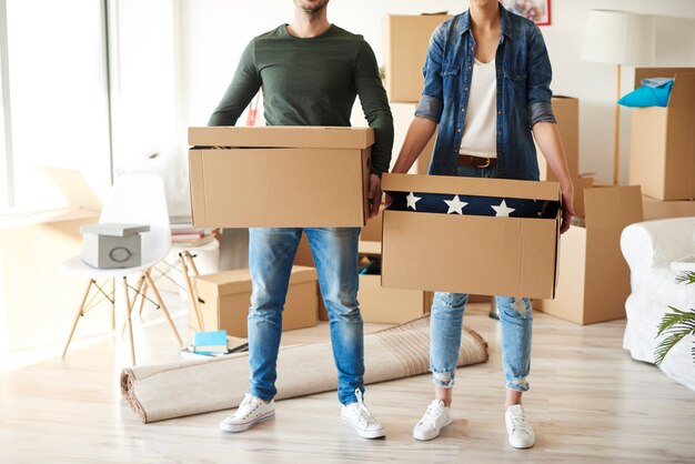
<svg viewBox="0 0 695 464"><path fill-rule="evenodd" d="M48 164L79 169L103 193L111 178L103 2L2 3L11 150L1 153L12 169L0 171L6 178L0 185L22 210L64 205L57 188L34 168Z"/></svg>

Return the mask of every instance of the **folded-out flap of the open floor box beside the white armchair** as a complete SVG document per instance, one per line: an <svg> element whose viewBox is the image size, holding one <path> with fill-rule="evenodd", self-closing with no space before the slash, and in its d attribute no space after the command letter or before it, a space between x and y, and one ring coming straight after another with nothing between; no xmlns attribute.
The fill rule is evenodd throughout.
<svg viewBox="0 0 695 464"><path fill-rule="evenodd" d="M597 186L584 191L586 229L620 229L639 222L642 192L639 185Z"/></svg>

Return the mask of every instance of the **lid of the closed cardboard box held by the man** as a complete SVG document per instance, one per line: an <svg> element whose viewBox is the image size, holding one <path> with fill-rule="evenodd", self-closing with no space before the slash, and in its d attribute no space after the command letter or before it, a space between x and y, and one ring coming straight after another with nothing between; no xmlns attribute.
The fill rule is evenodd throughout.
<svg viewBox="0 0 695 464"><path fill-rule="evenodd" d="M189 128L193 147L365 149L374 144L371 128L213 127Z"/></svg>

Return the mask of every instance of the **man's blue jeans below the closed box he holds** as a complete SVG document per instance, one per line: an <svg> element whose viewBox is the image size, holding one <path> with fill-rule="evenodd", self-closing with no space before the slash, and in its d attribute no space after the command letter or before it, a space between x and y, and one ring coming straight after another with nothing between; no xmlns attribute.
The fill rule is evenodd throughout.
<svg viewBox="0 0 695 464"><path fill-rule="evenodd" d="M338 397L342 404L364 392L364 334L357 304L359 228L303 229L309 239L319 286L329 312ZM282 310L301 228L250 229L249 269L252 292L249 309L249 393L271 401L275 390ZM311 360L306 360L311 362Z"/></svg>

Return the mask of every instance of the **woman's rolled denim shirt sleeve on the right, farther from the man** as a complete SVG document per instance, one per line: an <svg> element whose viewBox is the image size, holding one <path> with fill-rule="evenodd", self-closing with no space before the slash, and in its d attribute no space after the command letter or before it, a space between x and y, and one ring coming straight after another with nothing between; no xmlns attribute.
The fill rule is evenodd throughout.
<svg viewBox="0 0 695 464"><path fill-rule="evenodd" d="M528 37L526 102L531 127L540 121L556 122L551 99L553 70L541 29L533 24Z"/></svg>

